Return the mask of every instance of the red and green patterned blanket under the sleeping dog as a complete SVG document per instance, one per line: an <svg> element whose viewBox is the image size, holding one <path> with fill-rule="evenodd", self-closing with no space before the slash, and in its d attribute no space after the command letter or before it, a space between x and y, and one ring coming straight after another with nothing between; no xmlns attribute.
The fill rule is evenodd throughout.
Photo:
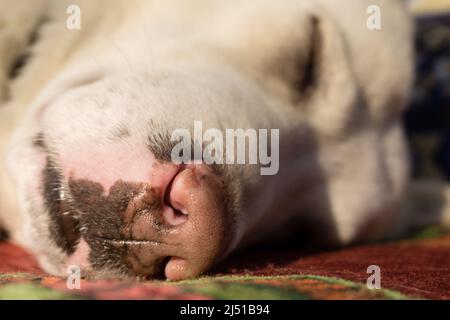
<svg viewBox="0 0 450 320"><path fill-rule="evenodd" d="M450 234L333 252L254 250L195 280L81 280L44 274L23 249L0 243L0 299L450 299ZM381 289L368 289L370 265Z"/></svg>

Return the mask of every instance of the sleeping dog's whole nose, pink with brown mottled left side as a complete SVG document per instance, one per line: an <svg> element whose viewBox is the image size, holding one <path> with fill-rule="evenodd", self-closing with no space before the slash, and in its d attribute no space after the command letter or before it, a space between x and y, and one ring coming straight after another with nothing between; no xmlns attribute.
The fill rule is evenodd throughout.
<svg viewBox="0 0 450 320"><path fill-rule="evenodd" d="M160 194L144 189L130 202L122 228L123 236L138 239L129 244L135 246L128 257L135 273L163 265L168 279L179 280L205 272L220 259L230 222L221 181L208 167L180 167Z"/></svg>

